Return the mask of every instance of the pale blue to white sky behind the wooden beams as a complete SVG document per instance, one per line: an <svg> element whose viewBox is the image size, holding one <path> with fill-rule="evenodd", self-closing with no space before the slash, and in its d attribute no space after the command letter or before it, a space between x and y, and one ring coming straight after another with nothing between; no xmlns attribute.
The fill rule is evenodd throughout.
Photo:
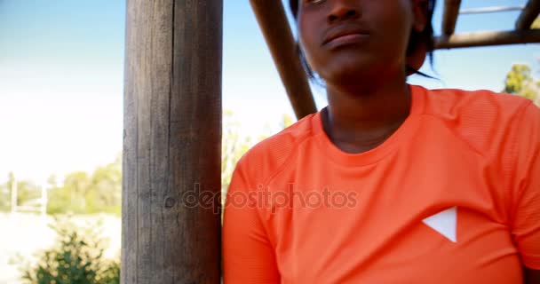
<svg viewBox="0 0 540 284"><path fill-rule="evenodd" d="M224 108L234 112L245 134L258 136L265 125L276 130L282 114L292 110L249 1L224 2ZM464 0L463 7L480 3L526 0ZM457 33L511 29L517 16L464 15ZM0 0L0 180L8 170L36 181L92 170L121 151L124 23L123 0ZM529 64L537 74L539 47L436 51L440 80L410 82L500 91L513 63ZM314 88L314 95L325 106L322 90Z"/></svg>

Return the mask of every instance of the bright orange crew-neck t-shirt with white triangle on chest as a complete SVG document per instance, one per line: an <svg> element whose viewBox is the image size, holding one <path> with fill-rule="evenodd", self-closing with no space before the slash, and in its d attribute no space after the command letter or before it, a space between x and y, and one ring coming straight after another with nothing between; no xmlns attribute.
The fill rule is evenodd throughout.
<svg viewBox="0 0 540 284"><path fill-rule="evenodd" d="M242 157L226 196L236 283L520 283L540 269L540 109L410 86L409 117L347 154L312 114Z"/></svg>

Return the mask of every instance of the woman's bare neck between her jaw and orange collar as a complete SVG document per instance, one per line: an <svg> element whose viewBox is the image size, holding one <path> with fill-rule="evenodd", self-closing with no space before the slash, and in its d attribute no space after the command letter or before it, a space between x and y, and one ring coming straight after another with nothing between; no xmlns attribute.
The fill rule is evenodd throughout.
<svg viewBox="0 0 540 284"><path fill-rule="evenodd" d="M336 146L348 153L369 151L401 126L412 100L409 85L401 78L347 88L328 85L329 106L322 121Z"/></svg>

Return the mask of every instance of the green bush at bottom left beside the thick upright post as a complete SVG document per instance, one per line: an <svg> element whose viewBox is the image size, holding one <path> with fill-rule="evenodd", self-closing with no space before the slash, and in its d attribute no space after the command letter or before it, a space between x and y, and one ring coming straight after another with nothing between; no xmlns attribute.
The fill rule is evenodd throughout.
<svg viewBox="0 0 540 284"><path fill-rule="evenodd" d="M103 257L99 227L77 228L70 222L52 225L58 240L38 254L38 262L21 267L28 284L116 284L120 283L120 263Z"/></svg>

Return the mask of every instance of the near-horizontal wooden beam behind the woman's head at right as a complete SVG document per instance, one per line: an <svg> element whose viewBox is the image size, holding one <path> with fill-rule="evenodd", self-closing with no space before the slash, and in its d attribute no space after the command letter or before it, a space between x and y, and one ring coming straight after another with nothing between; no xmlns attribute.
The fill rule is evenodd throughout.
<svg viewBox="0 0 540 284"><path fill-rule="evenodd" d="M540 29L439 36L435 38L435 49L516 43L540 43Z"/></svg>

